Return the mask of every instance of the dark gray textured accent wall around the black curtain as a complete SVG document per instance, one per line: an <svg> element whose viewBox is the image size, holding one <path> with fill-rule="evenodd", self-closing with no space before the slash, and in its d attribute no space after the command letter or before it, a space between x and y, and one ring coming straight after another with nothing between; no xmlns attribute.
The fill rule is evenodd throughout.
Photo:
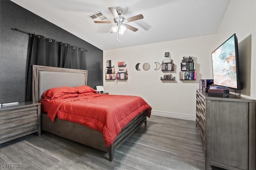
<svg viewBox="0 0 256 170"><path fill-rule="evenodd" d="M101 49L10 0L0 0L0 103L25 101L29 35L11 28L87 49L88 86L103 85Z"/></svg>

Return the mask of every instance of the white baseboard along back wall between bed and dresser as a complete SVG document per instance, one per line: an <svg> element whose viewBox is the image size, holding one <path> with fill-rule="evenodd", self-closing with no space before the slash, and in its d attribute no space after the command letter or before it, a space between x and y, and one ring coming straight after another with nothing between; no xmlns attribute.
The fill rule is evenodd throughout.
<svg viewBox="0 0 256 170"><path fill-rule="evenodd" d="M152 110L151 115L196 121L196 116Z"/></svg>

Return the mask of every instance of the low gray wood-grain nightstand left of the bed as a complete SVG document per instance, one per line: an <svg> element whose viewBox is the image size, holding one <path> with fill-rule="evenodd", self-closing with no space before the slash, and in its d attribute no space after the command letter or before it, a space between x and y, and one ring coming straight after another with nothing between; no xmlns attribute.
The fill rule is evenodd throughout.
<svg viewBox="0 0 256 170"><path fill-rule="evenodd" d="M0 107L0 144L31 133L41 135L40 103L20 102Z"/></svg>

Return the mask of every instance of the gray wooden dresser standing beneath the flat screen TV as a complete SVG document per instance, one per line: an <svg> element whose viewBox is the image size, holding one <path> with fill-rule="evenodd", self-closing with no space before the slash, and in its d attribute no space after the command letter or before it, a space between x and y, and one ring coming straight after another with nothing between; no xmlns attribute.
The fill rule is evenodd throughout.
<svg viewBox="0 0 256 170"><path fill-rule="evenodd" d="M255 104L233 94L217 98L196 90L196 127L206 170L255 170Z"/></svg>

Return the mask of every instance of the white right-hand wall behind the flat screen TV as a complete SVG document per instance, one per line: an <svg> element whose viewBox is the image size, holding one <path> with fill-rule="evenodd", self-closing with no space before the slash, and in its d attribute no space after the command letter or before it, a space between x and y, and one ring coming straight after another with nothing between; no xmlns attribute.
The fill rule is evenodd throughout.
<svg viewBox="0 0 256 170"><path fill-rule="evenodd" d="M226 14L220 24L218 33L216 35L219 44L224 42L225 39L228 39L233 33L236 33L238 38L238 43L246 39L246 37L252 37L251 42L251 68L249 70L250 77L244 81L244 87L250 88L250 94L246 94L246 97L250 97L252 99L256 99L256 1L255 0L231 0L226 11ZM240 49L239 49L240 50ZM243 52L243 51L241 51ZM240 51L239 51L240 54ZM247 53L246 53L247 54ZM250 54L249 54L250 55ZM250 57L246 55L239 55L240 60L243 57ZM245 68L241 68L245 69ZM246 78L247 75L242 75L241 78ZM250 84L246 84L250 83ZM248 89L244 89L248 90ZM241 90L241 94L243 94L243 90ZM242 95L243 96L243 95Z"/></svg>

